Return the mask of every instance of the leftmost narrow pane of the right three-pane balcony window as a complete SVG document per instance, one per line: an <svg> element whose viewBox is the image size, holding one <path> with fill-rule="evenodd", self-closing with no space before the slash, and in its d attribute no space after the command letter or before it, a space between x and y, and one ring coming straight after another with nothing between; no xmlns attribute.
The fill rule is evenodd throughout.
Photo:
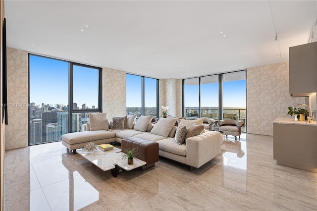
<svg viewBox="0 0 317 211"><path fill-rule="evenodd" d="M186 119L199 117L199 78L184 80L184 113Z"/></svg>

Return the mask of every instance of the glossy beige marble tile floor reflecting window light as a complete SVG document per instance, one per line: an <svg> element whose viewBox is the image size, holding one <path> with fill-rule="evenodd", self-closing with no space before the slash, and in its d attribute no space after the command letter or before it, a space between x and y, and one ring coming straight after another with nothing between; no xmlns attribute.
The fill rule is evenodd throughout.
<svg viewBox="0 0 317 211"><path fill-rule="evenodd" d="M243 134L199 169L160 158L114 178L60 142L5 152L5 211L317 210L317 173L276 164L273 138Z"/></svg>

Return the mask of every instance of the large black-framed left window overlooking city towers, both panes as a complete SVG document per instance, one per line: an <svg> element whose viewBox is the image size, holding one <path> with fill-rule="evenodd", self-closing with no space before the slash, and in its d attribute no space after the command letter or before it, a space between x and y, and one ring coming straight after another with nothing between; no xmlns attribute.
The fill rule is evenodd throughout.
<svg viewBox="0 0 317 211"><path fill-rule="evenodd" d="M101 68L29 54L29 145L80 131L101 112L100 90Z"/></svg>

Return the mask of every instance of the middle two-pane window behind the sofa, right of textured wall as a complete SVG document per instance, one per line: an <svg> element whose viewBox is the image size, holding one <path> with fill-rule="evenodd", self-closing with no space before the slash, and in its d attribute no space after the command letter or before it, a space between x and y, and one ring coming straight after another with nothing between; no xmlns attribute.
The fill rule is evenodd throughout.
<svg viewBox="0 0 317 211"><path fill-rule="evenodd" d="M157 117L159 80L126 74L126 113ZM137 117L137 118L138 118Z"/></svg>

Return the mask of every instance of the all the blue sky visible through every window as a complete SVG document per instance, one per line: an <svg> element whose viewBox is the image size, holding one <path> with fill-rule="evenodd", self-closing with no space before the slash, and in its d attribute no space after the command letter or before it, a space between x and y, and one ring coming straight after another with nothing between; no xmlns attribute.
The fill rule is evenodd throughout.
<svg viewBox="0 0 317 211"><path fill-rule="evenodd" d="M98 70L74 65L74 103L98 106ZM126 75L127 107L141 107L141 76ZM156 107L156 79L145 77L145 106ZM185 107L199 106L199 88L185 86ZM68 62L30 55L30 103L68 105ZM164 105L168 106L168 105ZM218 83L201 86L201 106L218 106ZM246 80L223 83L223 106L246 107Z"/></svg>

